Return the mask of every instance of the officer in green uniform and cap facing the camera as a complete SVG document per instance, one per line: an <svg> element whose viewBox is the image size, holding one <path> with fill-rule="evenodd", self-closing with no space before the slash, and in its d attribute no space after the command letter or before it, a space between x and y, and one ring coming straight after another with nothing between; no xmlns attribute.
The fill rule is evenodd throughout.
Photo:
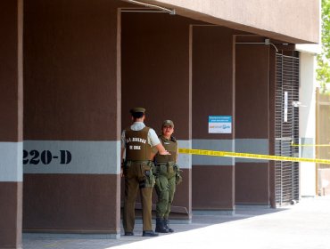
<svg viewBox="0 0 330 249"><path fill-rule="evenodd" d="M177 140L172 136L174 124L171 120L165 120L161 126L159 136L162 145L170 155L157 153L154 157L156 177L155 189L158 196L156 205L156 232L169 233L169 212L173 202L176 185L181 182L180 170L177 165ZM155 153L156 151L153 151Z"/></svg>

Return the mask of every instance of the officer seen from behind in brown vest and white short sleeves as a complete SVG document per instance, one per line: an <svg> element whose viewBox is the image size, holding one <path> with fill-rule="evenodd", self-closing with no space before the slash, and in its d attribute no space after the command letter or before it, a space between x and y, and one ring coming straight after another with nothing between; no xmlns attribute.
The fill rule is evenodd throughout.
<svg viewBox="0 0 330 249"><path fill-rule="evenodd" d="M137 189L140 189L143 217L143 236L155 237L152 228L152 193L154 185L152 147L161 155L169 152L161 145L157 134L144 124L144 108L132 108L132 125L121 134L122 175L125 176L125 199L123 227L125 236L133 236L135 225L135 203Z"/></svg>

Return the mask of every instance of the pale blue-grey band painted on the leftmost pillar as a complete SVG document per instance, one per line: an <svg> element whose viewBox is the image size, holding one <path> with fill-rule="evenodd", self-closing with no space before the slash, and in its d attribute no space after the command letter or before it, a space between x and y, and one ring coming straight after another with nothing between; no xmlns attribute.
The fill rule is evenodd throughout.
<svg viewBox="0 0 330 249"><path fill-rule="evenodd" d="M23 181L22 142L0 142L0 181Z"/></svg>

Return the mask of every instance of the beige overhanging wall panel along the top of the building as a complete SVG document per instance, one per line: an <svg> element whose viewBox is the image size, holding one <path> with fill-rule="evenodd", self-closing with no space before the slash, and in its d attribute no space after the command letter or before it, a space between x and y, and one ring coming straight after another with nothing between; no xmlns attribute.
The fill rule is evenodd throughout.
<svg viewBox="0 0 330 249"><path fill-rule="evenodd" d="M144 0L177 14L289 43L318 43L319 0Z"/></svg>

